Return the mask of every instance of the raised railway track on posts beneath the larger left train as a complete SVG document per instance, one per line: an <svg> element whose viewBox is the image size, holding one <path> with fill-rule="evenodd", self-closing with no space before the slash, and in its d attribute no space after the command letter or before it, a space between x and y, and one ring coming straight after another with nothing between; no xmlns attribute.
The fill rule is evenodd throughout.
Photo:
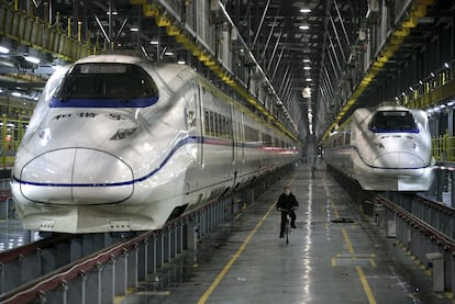
<svg viewBox="0 0 455 304"><path fill-rule="evenodd" d="M0 303L114 303L233 216L231 198L130 238L59 235L0 252Z"/></svg>

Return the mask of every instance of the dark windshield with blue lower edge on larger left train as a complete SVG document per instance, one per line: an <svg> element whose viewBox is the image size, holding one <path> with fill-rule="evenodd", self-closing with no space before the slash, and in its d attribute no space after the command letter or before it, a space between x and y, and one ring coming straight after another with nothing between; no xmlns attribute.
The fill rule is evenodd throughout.
<svg viewBox="0 0 455 304"><path fill-rule="evenodd" d="M158 89L141 67L126 64L80 64L63 79L51 106L148 106Z"/></svg>

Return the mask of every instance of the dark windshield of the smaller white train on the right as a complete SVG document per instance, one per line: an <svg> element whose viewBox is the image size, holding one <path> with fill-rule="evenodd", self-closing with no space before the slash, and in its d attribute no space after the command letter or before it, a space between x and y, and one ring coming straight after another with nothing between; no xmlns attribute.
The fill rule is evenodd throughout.
<svg viewBox="0 0 455 304"><path fill-rule="evenodd" d="M409 111L378 111L368 125L374 133L419 133L419 127Z"/></svg>

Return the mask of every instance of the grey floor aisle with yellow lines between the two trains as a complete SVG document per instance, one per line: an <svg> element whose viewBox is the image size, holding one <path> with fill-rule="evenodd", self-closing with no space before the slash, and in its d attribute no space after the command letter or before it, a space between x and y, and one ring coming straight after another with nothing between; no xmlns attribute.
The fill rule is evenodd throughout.
<svg viewBox="0 0 455 304"><path fill-rule="evenodd" d="M289 245L278 238L275 209L286 184L300 203ZM312 177L309 166L197 247L115 303L454 303L324 170Z"/></svg>

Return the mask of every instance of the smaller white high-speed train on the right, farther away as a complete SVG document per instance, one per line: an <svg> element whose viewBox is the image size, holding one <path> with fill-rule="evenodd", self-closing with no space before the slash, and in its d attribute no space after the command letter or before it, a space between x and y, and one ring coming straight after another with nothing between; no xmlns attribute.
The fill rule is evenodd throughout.
<svg viewBox="0 0 455 304"><path fill-rule="evenodd" d="M365 190L428 191L433 182L424 111L388 104L357 109L322 147L325 162Z"/></svg>

